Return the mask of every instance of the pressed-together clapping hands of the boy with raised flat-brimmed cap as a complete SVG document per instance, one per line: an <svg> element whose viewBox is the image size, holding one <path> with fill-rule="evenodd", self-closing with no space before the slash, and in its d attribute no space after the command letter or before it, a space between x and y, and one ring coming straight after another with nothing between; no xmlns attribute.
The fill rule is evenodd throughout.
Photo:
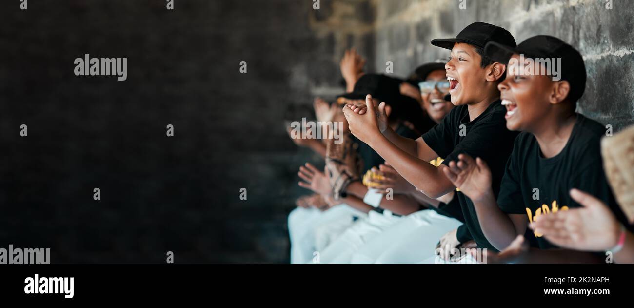
<svg viewBox="0 0 634 308"><path fill-rule="evenodd" d="M373 138L387 129L387 114L385 102L375 107L372 95L365 98L365 108L355 105L345 105L344 115L348 121L350 132L359 140L370 144Z"/></svg>

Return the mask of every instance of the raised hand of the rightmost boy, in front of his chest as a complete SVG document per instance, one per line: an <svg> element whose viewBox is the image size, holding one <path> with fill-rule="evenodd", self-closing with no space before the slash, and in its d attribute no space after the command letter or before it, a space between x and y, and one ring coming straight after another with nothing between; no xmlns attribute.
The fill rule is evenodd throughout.
<svg viewBox="0 0 634 308"><path fill-rule="evenodd" d="M480 157L474 160L467 154L460 154L458 163L451 161L449 166L441 168L451 183L472 201L482 200L491 193L491 170Z"/></svg>

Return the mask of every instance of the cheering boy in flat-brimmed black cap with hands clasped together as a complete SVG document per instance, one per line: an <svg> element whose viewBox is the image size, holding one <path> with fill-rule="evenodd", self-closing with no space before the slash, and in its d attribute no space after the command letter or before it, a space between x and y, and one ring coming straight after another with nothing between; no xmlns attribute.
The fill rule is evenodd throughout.
<svg viewBox="0 0 634 308"><path fill-rule="evenodd" d="M443 174L442 167L435 168L427 162L440 156L445 157L443 164L447 164L462 153L483 157L491 164L494 191L498 191L517 134L505 127L506 110L500 105L497 89L505 76L506 65L484 56L484 46L490 41L515 46L515 39L507 30L482 22L467 26L455 39L431 41L435 46L451 50L445 69L451 83L451 102L456 107L434 129L415 141L398 137L387 128L383 103L377 108L368 97L365 107L344 107L351 132L370 144L398 173L430 198L443 196L456 187ZM458 198L465 225L443 236L443 247L453 248L474 239L479 248L495 249L482 234L472 201L461 192Z"/></svg>

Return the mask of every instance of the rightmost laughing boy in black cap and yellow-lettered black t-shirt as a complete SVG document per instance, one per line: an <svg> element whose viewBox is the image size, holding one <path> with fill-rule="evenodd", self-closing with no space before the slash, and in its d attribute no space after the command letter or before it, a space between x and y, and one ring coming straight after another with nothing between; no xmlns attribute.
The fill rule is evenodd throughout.
<svg viewBox="0 0 634 308"><path fill-rule="evenodd" d="M481 158L461 154L445 172L474 202L489 243L503 250L541 215L580 206L569 196L573 188L590 192L620 212L602 168L604 126L575 112L586 84L579 52L557 37L534 36L517 48L489 43L486 55L508 60L507 78L498 86L501 104L507 109L507 128L522 133L515 140L497 198L490 185L491 172ZM533 246L556 248L541 234L534 236ZM587 263L603 258L581 251L530 250L515 262Z"/></svg>

